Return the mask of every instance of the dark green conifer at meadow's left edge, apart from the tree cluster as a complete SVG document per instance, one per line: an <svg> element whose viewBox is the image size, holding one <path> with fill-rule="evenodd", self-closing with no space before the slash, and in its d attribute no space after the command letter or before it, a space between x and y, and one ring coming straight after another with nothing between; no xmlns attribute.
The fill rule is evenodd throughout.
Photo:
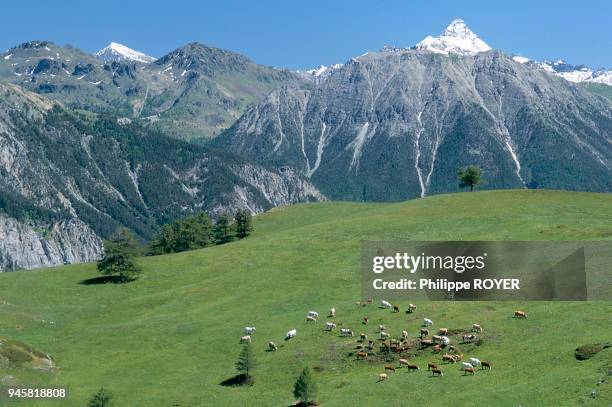
<svg viewBox="0 0 612 407"><path fill-rule="evenodd" d="M128 229L104 241L104 256L98 261L98 271L105 275L119 275L122 283L129 281L140 272L140 267L134 263L134 257L139 253L136 238Z"/></svg>

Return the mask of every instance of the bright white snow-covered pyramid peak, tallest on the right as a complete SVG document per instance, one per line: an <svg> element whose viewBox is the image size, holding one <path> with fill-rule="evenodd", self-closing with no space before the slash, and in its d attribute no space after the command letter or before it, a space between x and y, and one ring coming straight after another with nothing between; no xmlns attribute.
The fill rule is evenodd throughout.
<svg viewBox="0 0 612 407"><path fill-rule="evenodd" d="M425 37L415 48L438 54L460 55L474 55L491 49L461 19L453 20L439 37Z"/></svg>

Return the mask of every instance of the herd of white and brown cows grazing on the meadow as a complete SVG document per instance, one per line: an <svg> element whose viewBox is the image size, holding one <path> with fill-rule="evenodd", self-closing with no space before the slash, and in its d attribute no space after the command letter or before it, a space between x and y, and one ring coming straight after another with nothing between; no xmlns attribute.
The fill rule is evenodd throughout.
<svg viewBox="0 0 612 407"><path fill-rule="evenodd" d="M372 300L360 301L357 304L366 306L371 304ZM380 303L381 308L393 309L393 312L399 313L400 309L397 306L392 305L388 301L382 300ZM414 304L410 304L406 313L413 313L416 311L417 306ZM329 310L328 318L336 317L336 309L331 308ZM524 311L517 310L514 312L515 318L527 318L527 314ZM306 315L306 322L316 322L319 318L319 313L316 311L309 311ZM368 324L368 317L364 317L361 322L363 325ZM481 370L490 370L491 362L490 361L480 361L478 358L471 357L467 362L463 361L463 353L461 353L456 345L451 344L451 340L448 337L449 329L448 328L440 328L438 330L437 335L432 335L430 339L428 336L430 334L429 329L433 326L434 323L429 318L423 318L423 325L420 329L420 334L418 336L418 344L419 349L423 350L429 347L433 348L433 352L439 354L444 352L442 355L442 361L445 363L458 363L461 362L460 370L463 371L464 375L471 374L474 375L476 373L477 368L480 366ZM327 322L325 324L325 330L331 332L338 328L338 324L334 322ZM240 338L240 343L251 343L252 335L255 333L255 327L247 326L244 329L245 335ZM354 337L354 332L349 328L340 328L340 336L341 337ZM462 343L472 343L478 342L479 337L475 335L476 333L482 333L484 330L480 324L472 324L471 333L463 333ZM378 326L377 333L380 335L378 338L379 341L379 350L381 353L401 353L408 350L409 346L411 346L409 335L406 330L403 330L397 338L391 337L391 334L387 332L387 329L384 325ZM287 332L285 336L285 340L290 340L297 336L297 329L291 329ZM371 339L368 339L368 335L366 333L360 333L359 339L357 340L356 345L356 356L358 360L367 360L368 357L373 355L374 348L376 347L375 342ZM276 351L278 350L278 346L274 342L268 342L268 350ZM393 366L390 364L385 364L384 372L378 375L378 381L384 381L389 379L389 375L387 372L395 372L396 369L406 368L408 372L419 371L419 366L416 364L412 364L408 361L408 359L400 358L399 366ZM427 370L431 371L432 376L444 376L442 370L438 367L436 363L430 362L427 364Z"/></svg>

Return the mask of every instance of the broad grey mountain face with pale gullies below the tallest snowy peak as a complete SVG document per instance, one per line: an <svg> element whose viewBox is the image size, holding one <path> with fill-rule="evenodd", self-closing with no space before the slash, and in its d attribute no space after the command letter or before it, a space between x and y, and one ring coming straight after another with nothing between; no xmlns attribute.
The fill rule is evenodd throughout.
<svg viewBox="0 0 612 407"><path fill-rule="evenodd" d="M502 52L386 49L273 92L211 145L385 201L456 191L469 164L488 188L611 191L611 133L608 100Z"/></svg>

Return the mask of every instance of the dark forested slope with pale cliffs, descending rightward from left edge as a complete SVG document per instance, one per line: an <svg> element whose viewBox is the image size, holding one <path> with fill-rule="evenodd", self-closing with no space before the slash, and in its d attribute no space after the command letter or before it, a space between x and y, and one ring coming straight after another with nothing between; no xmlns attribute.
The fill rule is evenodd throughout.
<svg viewBox="0 0 612 407"><path fill-rule="evenodd" d="M0 83L0 267L89 261L100 237L144 239L200 211L254 213L324 196L303 175L82 115Z"/></svg>

